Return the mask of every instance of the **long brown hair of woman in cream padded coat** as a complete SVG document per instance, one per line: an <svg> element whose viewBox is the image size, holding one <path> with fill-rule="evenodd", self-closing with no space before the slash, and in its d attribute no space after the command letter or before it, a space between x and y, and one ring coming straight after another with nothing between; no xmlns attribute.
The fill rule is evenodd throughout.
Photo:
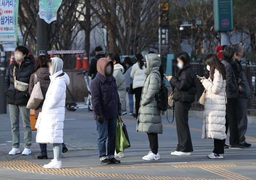
<svg viewBox="0 0 256 180"><path fill-rule="evenodd" d="M220 74L222 75L223 80L226 79L226 68L225 68L224 64L222 64L220 62L220 59L218 59L218 56L216 54L211 53L211 54L207 55L204 58L204 64L210 66L210 79L212 81L214 79L215 69L217 69L220 72Z"/></svg>

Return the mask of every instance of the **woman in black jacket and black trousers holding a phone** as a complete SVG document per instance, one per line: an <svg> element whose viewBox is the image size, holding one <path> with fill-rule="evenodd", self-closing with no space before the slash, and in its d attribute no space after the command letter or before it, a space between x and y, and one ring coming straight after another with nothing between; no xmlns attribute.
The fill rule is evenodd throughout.
<svg viewBox="0 0 256 180"><path fill-rule="evenodd" d="M174 110L176 128L178 134L178 145L171 155L182 156L191 155L193 151L190 130L188 125L188 110L196 97L196 73L191 68L190 56L186 52L181 52L177 56L178 75L166 76L174 89Z"/></svg>

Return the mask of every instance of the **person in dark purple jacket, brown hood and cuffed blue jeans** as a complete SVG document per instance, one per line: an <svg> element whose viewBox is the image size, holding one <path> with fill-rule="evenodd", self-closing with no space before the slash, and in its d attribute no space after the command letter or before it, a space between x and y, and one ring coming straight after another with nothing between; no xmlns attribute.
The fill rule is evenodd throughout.
<svg viewBox="0 0 256 180"><path fill-rule="evenodd" d="M101 164L119 164L114 158L116 148L116 117L121 115L121 103L113 76L114 63L101 58L97 63L97 75L92 80L91 98L94 120L98 131L98 149ZM108 139L108 155L106 140Z"/></svg>

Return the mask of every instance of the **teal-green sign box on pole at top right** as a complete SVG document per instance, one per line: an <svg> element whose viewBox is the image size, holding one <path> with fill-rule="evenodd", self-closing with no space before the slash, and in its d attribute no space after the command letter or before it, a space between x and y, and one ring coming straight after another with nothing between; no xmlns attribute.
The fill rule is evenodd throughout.
<svg viewBox="0 0 256 180"><path fill-rule="evenodd" d="M214 28L221 35L221 45L228 45L228 31L233 31L232 0L214 0Z"/></svg>

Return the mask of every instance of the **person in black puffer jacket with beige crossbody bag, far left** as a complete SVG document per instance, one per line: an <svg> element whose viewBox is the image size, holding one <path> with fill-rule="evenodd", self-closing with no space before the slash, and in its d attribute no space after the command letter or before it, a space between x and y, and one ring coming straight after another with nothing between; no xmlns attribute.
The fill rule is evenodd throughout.
<svg viewBox="0 0 256 180"><path fill-rule="evenodd" d="M9 152L9 155L20 153L20 113L23 121L25 141L22 155L29 155L31 153L32 130L30 110L26 108L30 98L28 88L25 91L20 91L22 89L18 90L16 89L17 86L14 86L15 81L20 81L26 83L28 87L30 76L35 70L32 59L27 57L28 53L28 48L24 46L16 47L14 53L15 62L8 67L4 79L4 93L7 96L12 125L12 151Z"/></svg>

